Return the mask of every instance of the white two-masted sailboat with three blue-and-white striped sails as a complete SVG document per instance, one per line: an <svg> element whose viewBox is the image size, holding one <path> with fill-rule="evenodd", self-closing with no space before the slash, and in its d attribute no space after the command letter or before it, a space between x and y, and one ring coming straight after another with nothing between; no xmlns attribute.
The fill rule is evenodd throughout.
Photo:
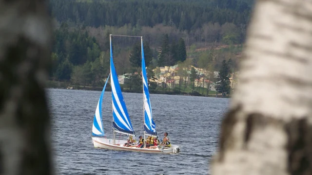
<svg viewBox="0 0 312 175"><path fill-rule="evenodd" d="M125 134L128 136L135 136L135 131L133 130L132 123L124 102L122 92L118 83L118 76L115 70L113 62L113 52L112 52L112 35L110 35L110 74L105 82L102 93L98 100L97 109L94 115L93 126L92 126L92 142L96 148L104 148L109 150L117 151L134 151L134 152L144 152L144 153L158 153L158 154L170 154L179 152L179 147L177 145L171 145L170 148L164 149L149 149L149 148L137 148L137 147L125 147L123 146L127 140L116 139L116 133ZM146 136L156 136L155 126L156 124L152 118L152 108L149 98L144 52L143 52L143 41L141 37L141 47L142 47L142 78L143 78L143 120L144 120L144 138ZM144 66L144 67L143 67ZM103 122L102 122L102 100L105 92L108 80L111 80L112 89L112 111L113 111L113 132L114 138L107 139L104 134ZM145 139L144 139L145 140ZM134 144L137 144L135 141Z"/></svg>

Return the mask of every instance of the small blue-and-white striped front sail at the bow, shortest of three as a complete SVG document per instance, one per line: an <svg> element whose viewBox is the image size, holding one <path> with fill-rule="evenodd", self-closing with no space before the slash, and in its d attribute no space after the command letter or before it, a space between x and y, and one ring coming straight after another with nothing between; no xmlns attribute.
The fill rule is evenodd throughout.
<svg viewBox="0 0 312 175"><path fill-rule="evenodd" d="M102 90L101 96L99 97L98 106L96 109L96 113L94 115L93 126L92 126L92 135L94 136L104 136L103 122L102 122L102 100L103 100L103 95L104 95L104 91L105 91L109 76L110 75L108 75L104 88Z"/></svg>

